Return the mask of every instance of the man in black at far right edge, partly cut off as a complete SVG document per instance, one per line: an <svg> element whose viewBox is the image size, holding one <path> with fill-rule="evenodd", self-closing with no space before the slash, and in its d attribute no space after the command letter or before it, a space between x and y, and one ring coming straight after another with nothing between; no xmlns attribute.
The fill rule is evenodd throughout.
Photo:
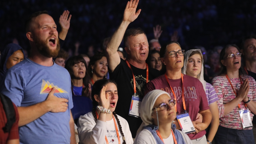
<svg viewBox="0 0 256 144"><path fill-rule="evenodd" d="M241 53L245 60L245 70L249 76L256 80L256 36L249 35L241 43ZM253 116L253 134L256 137L256 115ZM255 139L256 143L256 139Z"/></svg>

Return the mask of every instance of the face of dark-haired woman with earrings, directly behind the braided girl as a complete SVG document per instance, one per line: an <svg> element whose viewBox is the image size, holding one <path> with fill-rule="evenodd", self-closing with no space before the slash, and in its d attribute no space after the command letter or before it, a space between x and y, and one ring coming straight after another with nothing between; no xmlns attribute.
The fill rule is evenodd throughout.
<svg viewBox="0 0 256 144"><path fill-rule="evenodd" d="M96 74L97 77L103 78L108 72L107 58L102 57L100 60L97 60L91 68L93 69L93 74Z"/></svg>

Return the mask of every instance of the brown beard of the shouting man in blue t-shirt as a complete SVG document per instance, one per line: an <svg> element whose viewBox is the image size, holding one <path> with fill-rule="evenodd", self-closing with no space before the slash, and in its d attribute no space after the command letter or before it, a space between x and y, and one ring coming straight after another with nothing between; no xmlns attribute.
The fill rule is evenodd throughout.
<svg viewBox="0 0 256 144"><path fill-rule="evenodd" d="M57 47L55 50L51 50L49 46L47 46L47 43L49 43L49 40L52 36L48 37L45 41L41 40L39 37L35 37L35 45L37 47L37 50L40 54L42 54L45 57L57 57L60 51L60 41L58 37L56 37L55 43L57 43Z"/></svg>

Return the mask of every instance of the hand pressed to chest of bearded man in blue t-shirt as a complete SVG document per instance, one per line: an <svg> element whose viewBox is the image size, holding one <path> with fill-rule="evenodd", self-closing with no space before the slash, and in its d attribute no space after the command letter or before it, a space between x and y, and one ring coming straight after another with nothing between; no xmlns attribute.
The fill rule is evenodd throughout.
<svg viewBox="0 0 256 144"><path fill-rule="evenodd" d="M55 87L52 88L51 92L46 98L47 106L50 112L65 112L68 109L68 100L66 98L58 98L54 96Z"/></svg>

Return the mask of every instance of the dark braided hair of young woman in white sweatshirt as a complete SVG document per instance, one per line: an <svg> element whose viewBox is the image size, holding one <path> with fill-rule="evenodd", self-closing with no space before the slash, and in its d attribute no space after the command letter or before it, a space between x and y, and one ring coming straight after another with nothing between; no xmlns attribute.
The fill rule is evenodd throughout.
<svg viewBox="0 0 256 144"><path fill-rule="evenodd" d="M99 96L102 87L105 86L108 83L113 83L113 84L115 84L115 86L117 86L117 84L114 81L111 81L111 80L108 80L108 79L100 79L100 80L97 80L93 84L93 89L92 89L93 110L92 110L92 114L93 114L93 117L95 119L95 122L97 122L97 120L98 120L97 115L96 115L96 110L97 110L96 107L98 106L98 102L95 100L94 95ZM122 137L123 137L123 144L126 144L125 138L124 138L124 133L123 133L120 121L119 121L115 112L113 112L113 115L115 116L115 119L117 120L118 126L120 128L120 132L121 132Z"/></svg>

